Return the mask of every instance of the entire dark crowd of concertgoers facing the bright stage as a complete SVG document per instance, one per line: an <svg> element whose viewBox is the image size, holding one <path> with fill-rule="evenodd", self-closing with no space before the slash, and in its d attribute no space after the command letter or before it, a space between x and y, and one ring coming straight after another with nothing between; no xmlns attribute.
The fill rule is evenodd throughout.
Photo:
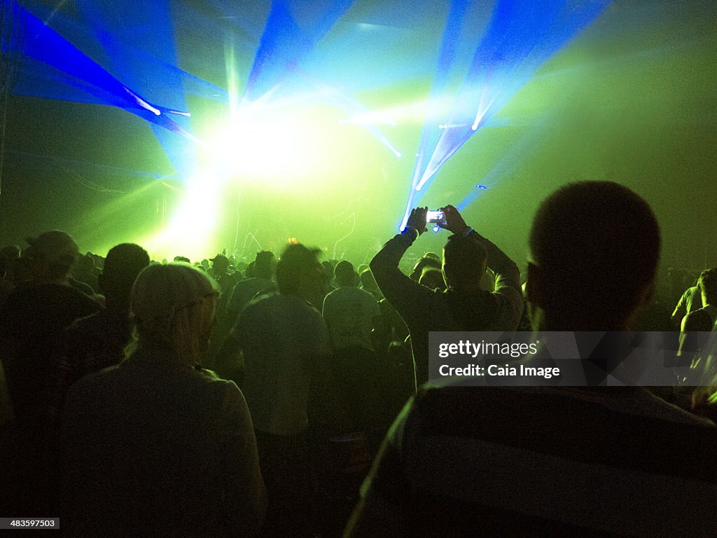
<svg viewBox="0 0 717 538"><path fill-rule="evenodd" d="M522 277L442 212L413 268L422 207L369 265L4 247L0 515L70 537L713 536L717 349L695 335L717 268L658 274L655 215L612 182L543 201ZM430 382L430 332L537 330L669 331L692 377Z"/></svg>

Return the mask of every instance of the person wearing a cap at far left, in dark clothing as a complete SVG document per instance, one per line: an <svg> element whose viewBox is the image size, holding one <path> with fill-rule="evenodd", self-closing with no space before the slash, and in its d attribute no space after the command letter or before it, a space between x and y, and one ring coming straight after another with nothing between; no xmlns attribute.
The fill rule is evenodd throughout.
<svg viewBox="0 0 717 538"><path fill-rule="evenodd" d="M23 257L30 260L32 283L16 288L0 307L0 357L14 410L16 451L16 483L0 484L0 491L14 495L11 504L0 506L16 514L44 514L37 510L50 501L42 466L47 369L60 351L62 331L101 306L70 285L70 268L79 255L70 235L50 230L27 242Z"/></svg>

